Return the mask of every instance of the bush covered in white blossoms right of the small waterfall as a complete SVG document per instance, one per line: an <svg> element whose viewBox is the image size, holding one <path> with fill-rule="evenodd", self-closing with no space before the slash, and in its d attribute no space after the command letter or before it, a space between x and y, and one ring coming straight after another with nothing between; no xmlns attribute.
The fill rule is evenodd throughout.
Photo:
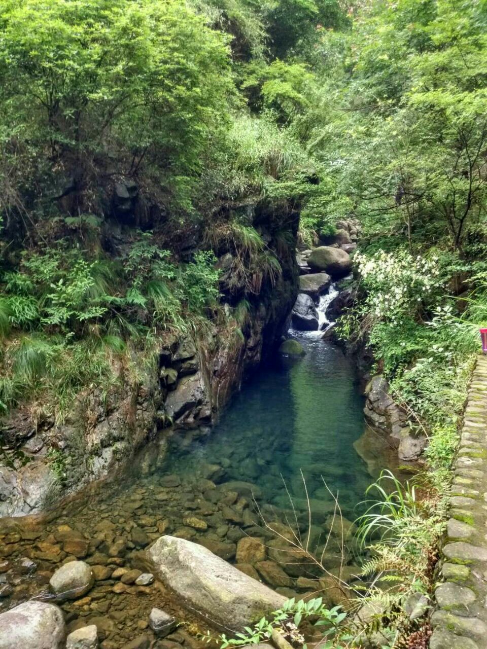
<svg viewBox="0 0 487 649"><path fill-rule="evenodd" d="M413 256L405 250L378 251L354 258L368 293L365 308L377 320L399 324L402 315L417 313L443 284L438 258Z"/></svg>

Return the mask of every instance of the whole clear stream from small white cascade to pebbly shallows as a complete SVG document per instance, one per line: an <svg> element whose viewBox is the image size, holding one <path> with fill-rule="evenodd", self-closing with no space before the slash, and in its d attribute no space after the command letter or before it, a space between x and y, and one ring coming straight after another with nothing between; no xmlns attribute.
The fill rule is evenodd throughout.
<svg viewBox="0 0 487 649"><path fill-rule="evenodd" d="M337 293L332 286L321 297L320 325ZM94 567L96 581L86 597L62 604L69 631L97 624L102 648L119 649L137 633L151 634L153 606L192 622L159 582L119 581L123 570L144 570L142 550L164 533L205 545L286 596L322 586L322 572L308 557L284 554L282 561L290 528L309 537L327 569L342 570L344 563L352 573L355 548L342 557L334 496L343 517L353 521L374 462L379 466L382 459L373 451L367 458L363 443L360 455L356 451L365 426L353 360L322 332L289 335L306 355L263 366L211 431L161 434L127 474L45 517L10 519L0 550L0 611L27 598L49 598L54 570L76 557ZM255 563L238 548L245 536L264 540L265 561ZM195 644L186 635L185 646Z"/></svg>

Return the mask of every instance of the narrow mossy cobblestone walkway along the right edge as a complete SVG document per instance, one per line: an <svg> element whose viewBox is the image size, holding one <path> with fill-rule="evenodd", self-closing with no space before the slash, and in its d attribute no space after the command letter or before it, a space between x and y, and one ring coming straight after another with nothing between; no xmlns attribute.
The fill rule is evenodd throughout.
<svg viewBox="0 0 487 649"><path fill-rule="evenodd" d="M436 587L431 649L487 649L487 357L471 378Z"/></svg>

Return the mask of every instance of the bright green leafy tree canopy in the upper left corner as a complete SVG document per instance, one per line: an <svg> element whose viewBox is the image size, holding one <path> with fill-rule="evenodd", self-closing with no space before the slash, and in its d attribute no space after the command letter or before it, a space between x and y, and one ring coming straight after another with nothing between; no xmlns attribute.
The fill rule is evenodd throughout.
<svg viewBox="0 0 487 649"><path fill-rule="evenodd" d="M152 166L187 205L210 130L227 120L221 34L184 3L160 0L2 0L0 30L9 164L47 147L53 158L95 155L109 140L132 173Z"/></svg>

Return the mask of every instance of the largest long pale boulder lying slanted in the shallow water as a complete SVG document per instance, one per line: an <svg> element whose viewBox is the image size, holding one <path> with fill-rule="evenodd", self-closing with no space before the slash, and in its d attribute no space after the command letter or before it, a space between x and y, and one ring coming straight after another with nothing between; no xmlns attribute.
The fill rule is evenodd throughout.
<svg viewBox="0 0 487 649"><path fill-rule="evenodd" d="M162 536L147 550L158 577L195 611L222 627L242 630L286 598L201 545Z"/></svg>

